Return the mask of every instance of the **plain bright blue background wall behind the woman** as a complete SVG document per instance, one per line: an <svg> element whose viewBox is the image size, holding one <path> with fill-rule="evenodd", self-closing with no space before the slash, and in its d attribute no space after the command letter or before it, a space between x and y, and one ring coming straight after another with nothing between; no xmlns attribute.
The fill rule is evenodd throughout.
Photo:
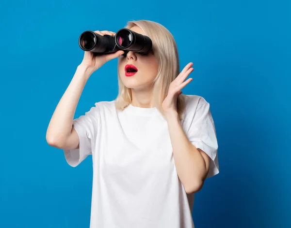
<svg viewBox="0 0 291 228"><path fill-rule="evenodd" d="M290 1L289 1L290 2ZM92 160L67 165L46 130L83 51L84 30L161 23L183 94L210 102L220 174L195 196L196 228L290 228L291 3L270 0L4 1L0 8L0 227L89 227ZM94 72L75 117L117 95L117 60Z"/></svg>

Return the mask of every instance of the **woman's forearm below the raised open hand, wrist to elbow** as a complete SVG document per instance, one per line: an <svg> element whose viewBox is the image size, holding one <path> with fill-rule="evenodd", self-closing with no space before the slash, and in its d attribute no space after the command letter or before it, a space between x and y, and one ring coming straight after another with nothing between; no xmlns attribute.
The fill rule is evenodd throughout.
<svg viewBox="0 0 291 228"><path fill-rule="evenodd" d="M178 119L178 113L168 114L166 120L178 177L187 193L198 191L207 175L205 160L188 140Z"/></svg>

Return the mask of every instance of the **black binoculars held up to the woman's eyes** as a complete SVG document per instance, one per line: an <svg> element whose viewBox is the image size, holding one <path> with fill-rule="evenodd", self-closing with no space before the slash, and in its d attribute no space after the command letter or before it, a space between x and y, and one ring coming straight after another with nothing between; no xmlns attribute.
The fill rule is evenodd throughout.
<svg viewBox="0 0 291 228"><path fill-rule="evenodd" d="M118 30L115 36L101 36L94 31L84 31L79 37L79 46L84 51L93 52L94 55L124 51L124 56L133 51L146 55L152 48L152 41L149 37L136 33L128 28Z"/></svg>

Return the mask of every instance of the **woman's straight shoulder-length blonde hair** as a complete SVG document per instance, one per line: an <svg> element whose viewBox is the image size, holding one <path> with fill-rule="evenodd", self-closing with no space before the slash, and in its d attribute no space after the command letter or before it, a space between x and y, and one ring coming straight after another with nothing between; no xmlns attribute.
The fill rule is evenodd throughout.
<svg viewBox="0 0 291 228"><path fill-rule="evenodd" d="M170 31L161 24L148 20L129 21L125 28L133 26L140 27L152 40L152 51L158 61L158 73L154 80L153 98L154 106L164 116L162 110L162 101L168 94L168 89L171 82L179 74L179 57L176 41ZM118 59L119 64L119 59ZM131 103L131 89L127 88L121 81L119 72L118 75L118 95L115 99L115 107L117 110L124 110ZM185 111L185 97L179 95L177 100L177 111L179 119L183 119Z"/></svg>

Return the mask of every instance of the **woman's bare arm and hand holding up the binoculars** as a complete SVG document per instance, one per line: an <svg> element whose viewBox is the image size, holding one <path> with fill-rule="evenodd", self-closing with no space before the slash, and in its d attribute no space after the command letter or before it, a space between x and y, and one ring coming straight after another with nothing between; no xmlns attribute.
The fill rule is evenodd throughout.
<svg viewBox="0 0 291 228"><path fill-rule="evenodd" d="M95 32L101 36L115 35L115 32L107 30ZM46 135L46 140L49 145L60 149L79 148L79 136L73 128L73 120L84 86L94 71L99 69L107 61L119 57L122 54L124 54L124 51L100 56L95 56L91 52L84 52L84 58L81 64L78 66L71 83L65 90L63 97L50 119Z"/></svg>

